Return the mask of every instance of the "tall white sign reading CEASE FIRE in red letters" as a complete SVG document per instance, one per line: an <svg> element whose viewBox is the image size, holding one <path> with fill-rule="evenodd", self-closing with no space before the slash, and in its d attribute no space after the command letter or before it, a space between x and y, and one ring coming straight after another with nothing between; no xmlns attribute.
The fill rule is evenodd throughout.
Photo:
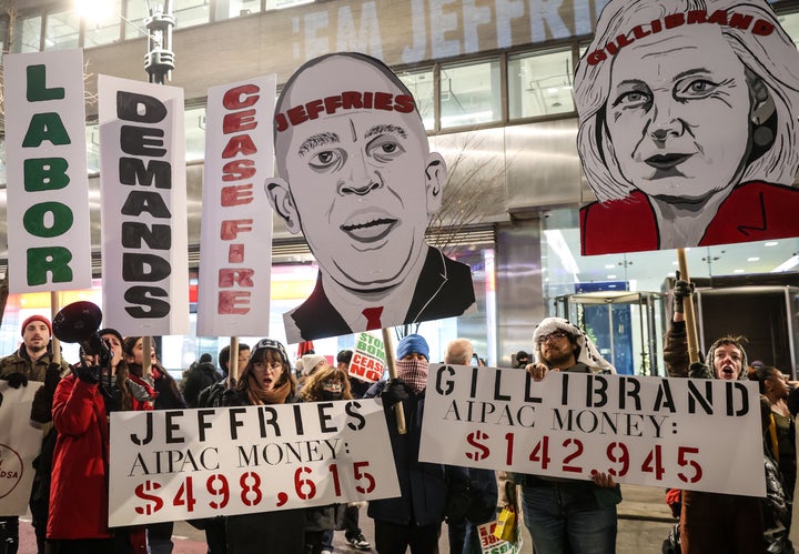
<svg viewBox="0 0 799 554"><path fill-rule="evenodd" d="M275 77L209 90L198 335L269 332Z"/></svg>

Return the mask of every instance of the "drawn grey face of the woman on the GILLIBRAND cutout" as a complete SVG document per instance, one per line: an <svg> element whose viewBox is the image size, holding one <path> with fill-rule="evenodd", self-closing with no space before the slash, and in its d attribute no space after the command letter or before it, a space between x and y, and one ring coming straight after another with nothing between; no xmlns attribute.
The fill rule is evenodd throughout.
<svg viewBox="0 0 799 554"><path fill-rule="evenodd" d="M606 121L643 192L701 200L736 184L749 153L750 88L718 26L636 40L613 61Z"/></svg>

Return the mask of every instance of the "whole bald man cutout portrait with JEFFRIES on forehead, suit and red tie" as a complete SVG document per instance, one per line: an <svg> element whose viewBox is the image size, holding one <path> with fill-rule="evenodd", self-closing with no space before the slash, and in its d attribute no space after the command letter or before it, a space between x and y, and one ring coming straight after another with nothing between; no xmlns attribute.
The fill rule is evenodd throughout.
<svg viewBox="0 0 799 554"><path fill-rule="evenodd" d="M284 314L290 343L463 314L467 265L425 242L447 170L431 152L413 95L361 53L311 60L274 118L274 210L318 263L311 296Z"/></svg>

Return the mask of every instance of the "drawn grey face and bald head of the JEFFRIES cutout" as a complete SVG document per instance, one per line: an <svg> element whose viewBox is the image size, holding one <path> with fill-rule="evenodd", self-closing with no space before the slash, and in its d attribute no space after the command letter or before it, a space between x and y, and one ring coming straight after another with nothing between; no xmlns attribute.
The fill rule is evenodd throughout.
<svg viewBox="0 0 799 554"><path fill-rule="evenodd" d="M294 81L281 109L345 91L403 94L368 63L334 57ZM272 204L323 271L358 291L402 282L446 179L415 110L337 108L279 132L275 145L284 180L267 183Z"/></svg>

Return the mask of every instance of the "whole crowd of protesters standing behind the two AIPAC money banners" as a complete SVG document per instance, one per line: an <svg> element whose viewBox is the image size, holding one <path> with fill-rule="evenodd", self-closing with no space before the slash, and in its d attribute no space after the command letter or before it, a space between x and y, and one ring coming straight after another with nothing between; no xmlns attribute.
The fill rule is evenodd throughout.
<svg viewBox="0 0 799 554"><path fill-rule="evenodd" d="M666 334L665 361L671 377L758 382L763 423L766 498L697 491L669 491L679 524L664 552L783 553L789 540L796 481L795 415L799 396L787 376L761 362L749 364L740 338L724 336L704 362L687 356L682 304L691 295L685 281L674 289L674 316ZM507 507L508 491L522 491L524 524L536 554L598 553L616 550L620 488L613 476L594 473L589 480L546 475L495 474L419 461L429 346L418 334L404 336L396 347L396 376L370 384L347 371L352 351L338 353L336 364L307 352L292 364L282 343L241 344L239 372L230 372L230 349L220 352L220 367L201 356L179 384L160 364L151 340L123 338L114 329L98 335L107 352L82 355L69 365L52 354L52 325L34 315L24 321L22 343L0 359L0 379L10 387L41 381L31 406L31 422L42 429L42 449L30 495L39 553L152 553L173 551L173 522L109 528L109 414L113 411L174 410L323 402L357 397L382 399L401 494L374 500L367 514L374 521L380 553L437 553L447 522L451 553L477 553L477 525ZM533 336L533 353L519 351L513 365L539 381L550 371L614 373L590 339L559 318L542 321ZM447 345L445 363L474 363L469 341ZM512 356L513 357L513 356ZM294 366L292 366L294 365ZM402 406L406 433L397 430L395 410ZM497 482L499 485L497 486ZM514 493L515 495L515 493ZM80 500L80 510L75 502ZM515 510L519 510L513 501ZM358 526L362 504L218 516L191 521L205 531L209 554L330 554L333 534L344 531L347 545L372 550ZM18 520L0 520L8 537L6 552L18 552ZM4 554L4 553L3 553Z"/></svg>

